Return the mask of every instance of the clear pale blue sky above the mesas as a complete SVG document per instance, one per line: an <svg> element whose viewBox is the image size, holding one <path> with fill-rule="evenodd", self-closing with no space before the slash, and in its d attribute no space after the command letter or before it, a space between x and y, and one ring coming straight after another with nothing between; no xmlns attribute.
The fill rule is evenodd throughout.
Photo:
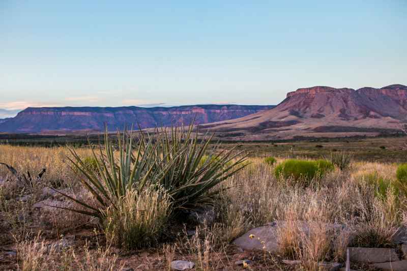
<svg viewBox="0 0 407 271"><path fill-rule="evenodd" d="M0 0L0 118L407 85L406 14L406 0Z"/></svg>

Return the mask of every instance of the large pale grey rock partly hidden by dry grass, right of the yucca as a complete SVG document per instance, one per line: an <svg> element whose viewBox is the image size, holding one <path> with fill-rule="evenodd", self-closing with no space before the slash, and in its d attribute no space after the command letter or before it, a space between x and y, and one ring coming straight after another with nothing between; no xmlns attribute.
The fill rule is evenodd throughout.
<svg viewBox="0 0 407 271"><path fill-rule="evenodd" d="M299 222L301 231L308 233L309 227L306 222ZM266 250L270 253L277 253L279 251L279 245L277 242L277 229L278 227L285 227L284 221L275 221L267 226L258 227L249 230L244 235L235 239L233 244L244 250ZM328 229L340 229L342 225L339 224L327 224ZM254 238L250 238L250 235L254 235ZM264 242L264 244L261 244ZM265 249L264 249L265 247Z"/></svg>

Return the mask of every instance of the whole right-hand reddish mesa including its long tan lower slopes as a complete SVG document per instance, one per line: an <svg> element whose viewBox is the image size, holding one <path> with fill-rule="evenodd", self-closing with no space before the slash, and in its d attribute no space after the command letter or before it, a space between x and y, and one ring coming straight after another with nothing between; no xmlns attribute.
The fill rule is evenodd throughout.
<svg viewBox="0 0 407 271"><path fill-rule="evenodd" d="M407 123L407 86L334 88L313 86L289 92L276 107L201 128L234 132L235 140L342 137L397 132ZM226 137L222 135L222 137Z"/></svg>

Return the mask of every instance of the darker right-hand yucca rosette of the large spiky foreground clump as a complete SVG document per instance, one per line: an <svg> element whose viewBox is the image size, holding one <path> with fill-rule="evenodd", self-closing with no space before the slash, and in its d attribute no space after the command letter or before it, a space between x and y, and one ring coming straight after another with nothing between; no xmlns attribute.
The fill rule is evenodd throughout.
<svg viewBox="0 0 407 271"><path fill-rule="evenodd" d="M242 152L221 150L219 143L210 148L213 135L199 140L198 133L192 136L192 131L192 125L188 129L156 130L161 135L154 150L156 168L168 169L156 185L168 191L175 210L211 204L220 192L217 185L247 166Z"/></svg>

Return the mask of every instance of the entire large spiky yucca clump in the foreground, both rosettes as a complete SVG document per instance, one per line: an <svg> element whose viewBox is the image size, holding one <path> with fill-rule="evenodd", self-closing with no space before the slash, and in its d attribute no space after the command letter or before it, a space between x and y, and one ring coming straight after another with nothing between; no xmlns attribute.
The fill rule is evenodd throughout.
<svg viewBox="0 0 407 271"><path fill-rule="evenodd" d="M213 135L199 140L197 133L191 137L192 130L193 125L187 130L171 128L170 132L163 128L147 136L140 131L136 145L132 132L124 131L123 135L118 132L116 149L106 129L99 155L96 147L92 147L96 171L86 165L75 149L69 148L72 157L68 159L83 174L80 182L92 193L98 206L60 193L83 207L70 210L101 219L107 208L117 209L129 189L138 192L150 187L164 189L175 210L210 204L220 191L215 187L245 167L246 156L234 154L234 148L219 151L219 144L209 149ZM200 163L206 153L207 160Z"/></svg>

